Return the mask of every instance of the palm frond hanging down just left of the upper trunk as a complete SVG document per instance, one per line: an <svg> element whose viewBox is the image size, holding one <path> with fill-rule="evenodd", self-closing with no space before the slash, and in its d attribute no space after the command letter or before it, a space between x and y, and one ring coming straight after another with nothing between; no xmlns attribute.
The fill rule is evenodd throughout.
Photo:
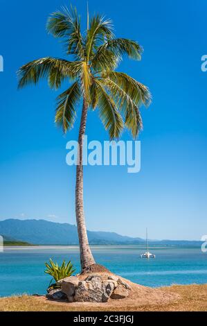
<svg viewBox="0 0 207 326"><path fill-rule="evenodd" d="M80 96L80 85L76 81L69 89L57 97L55 123L61 126L64 132L73 127L76 118L75 105L80 99Z"/></svg>

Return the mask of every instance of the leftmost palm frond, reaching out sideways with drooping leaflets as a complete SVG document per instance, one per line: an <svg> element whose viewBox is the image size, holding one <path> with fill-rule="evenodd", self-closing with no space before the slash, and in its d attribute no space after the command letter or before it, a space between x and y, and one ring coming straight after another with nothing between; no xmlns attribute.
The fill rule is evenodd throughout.
<svg viewBox="0 0 207 326"><path fill-rule="evenodd" d="M51 88L61 86L65 78L75 79L80 74L80 62L71 62L58 58L41 58L22 66L17 71L19 78L19 88L31 83L37 84L40 78L47 78Z"/></svg>

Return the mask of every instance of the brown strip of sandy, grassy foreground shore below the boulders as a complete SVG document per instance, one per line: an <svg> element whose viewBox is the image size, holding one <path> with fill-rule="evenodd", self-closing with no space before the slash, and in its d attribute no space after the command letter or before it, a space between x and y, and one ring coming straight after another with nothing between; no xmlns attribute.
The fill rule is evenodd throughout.
<svg viewBox="0 0 207 326"><path fill-rule="evenodd" d="M207 284L173 285L156 289L157 295L163 295L161 293L172 300L159 298L156 302L154 294L154 299L150 302L146 297L141 300L140 295L134 293L133 298L127 301L71 304L49 301L44 296L21 295L0 298L0 311L207 311Z"/></svg>

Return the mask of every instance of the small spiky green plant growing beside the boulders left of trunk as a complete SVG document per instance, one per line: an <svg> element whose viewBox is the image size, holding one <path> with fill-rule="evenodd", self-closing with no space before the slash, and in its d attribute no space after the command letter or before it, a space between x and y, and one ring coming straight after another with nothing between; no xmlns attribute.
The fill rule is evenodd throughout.
<svg viewBox="0 0 207 326"><path fill-rule="evenodd" d="M75 268L73 269L73 264L71 261L69 261L66 264L66 261L62 261L62 265L59 266L57 263L54 263L53 260L50 258L49 263L45 263L46 270L44 273L51 275L53 279L55 280L55 283L51 284L53 282L53 279L51 280L48 291L51 289L58 288L60 286L57 285L57 282L62 280L64 277L71 276L75 272Z"/></svg>

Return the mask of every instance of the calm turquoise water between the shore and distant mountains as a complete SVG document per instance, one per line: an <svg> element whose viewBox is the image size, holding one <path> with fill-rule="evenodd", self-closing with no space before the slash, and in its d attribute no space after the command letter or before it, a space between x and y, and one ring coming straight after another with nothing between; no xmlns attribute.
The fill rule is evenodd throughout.
<svg viewBox="0 0 207 326"><path fill-rule="evenodd" d="M155 259L141 259L145 248L136 246L94 246L96 261L132 282L146 286L207 283L207 254L200 247L151 248ZM0 296L44 294L51 277L44 274L44 262L69 260L79 272L77 247L6 248L0 253Z"/></svg>

